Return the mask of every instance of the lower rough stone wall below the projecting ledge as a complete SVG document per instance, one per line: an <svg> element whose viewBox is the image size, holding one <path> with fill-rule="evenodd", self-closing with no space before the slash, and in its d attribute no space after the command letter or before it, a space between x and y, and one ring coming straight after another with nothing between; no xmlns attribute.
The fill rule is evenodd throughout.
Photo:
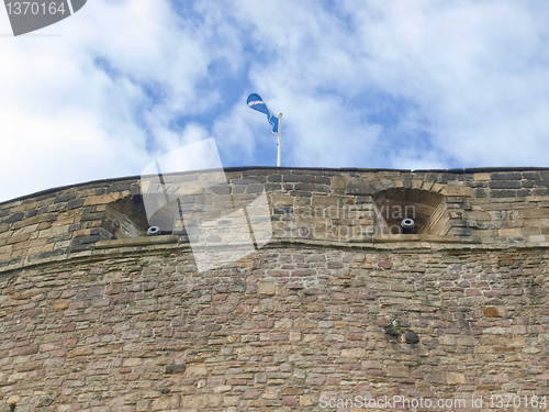
<svg viewBox="0 0 549 412"><path fill-rule="evenodd" d="M163 247L2 277L0 411L549 396L547 249L278 244L197 274Z"/></svg>

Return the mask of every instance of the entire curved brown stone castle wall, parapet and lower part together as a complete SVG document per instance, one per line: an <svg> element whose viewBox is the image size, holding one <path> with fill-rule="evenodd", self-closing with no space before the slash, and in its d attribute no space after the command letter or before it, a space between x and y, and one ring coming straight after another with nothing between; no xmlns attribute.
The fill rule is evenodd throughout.
<svg viewBox="0 0 549 412"><path fill-rule="evenodd" d="M227 176L265 185L274 237L205 272L184 235L144 235L136 178L0 204L0 412L549 397L548 170ZM418 190L442 196L447 221L370 231L391 188L418 210Z"/></svg>

